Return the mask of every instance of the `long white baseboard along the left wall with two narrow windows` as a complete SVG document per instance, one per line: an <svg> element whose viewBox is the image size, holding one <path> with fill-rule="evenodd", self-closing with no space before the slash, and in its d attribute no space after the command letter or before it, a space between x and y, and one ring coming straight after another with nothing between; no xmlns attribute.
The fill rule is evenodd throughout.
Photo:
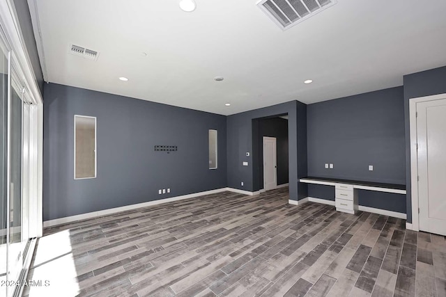
<svg viewBox="0 0 446 297"><path fill-rule="evenodd" d="M142 203L137 203L137 204L131 204L131 205L123 206L123 207L115 207L115 208L112 208L112 209L104 209L104 210L100 210L100 211L93 211L93 212L89 212L89 213L86 213L86 214L78 214L76 216L66 216L64 218L55 218L54 220L45 220L45 222L43 222L43 227L51 227L51 226L54 226L54 225L61 225L61 224L71 223L71 222L74 222L76 220L86 220L87 218L97 218L98 216L106 216L107 214L116 214L117 212L121 212L121 211L128 211L128 210L131 210L131 209L138 209L138 208L141 208L141 207L148 207L148 206L151 206L151 205L162 204L162 203L167 203L167 202L174 202L174 201L178 201L178 200L199 197L199 196L202 196L202 195L210 195L210 194L220 193L220 192L223 192L223 191L233 191L233 190L235 190L235 189L231 189L231 188L217 188L215 190L210 190L210 191L204 191L204 192L192 193L192 194L187 194L187 195L181 195L181 196L171 197L171 198L166 198L166 199L160 199L160 200L142 202ZM233 192L239 193L238 191L233 191ZM247 192L247 191L243 191L243 192L251 193L251 194L246 194L246 195L253 195L252 192Z"/></svg>

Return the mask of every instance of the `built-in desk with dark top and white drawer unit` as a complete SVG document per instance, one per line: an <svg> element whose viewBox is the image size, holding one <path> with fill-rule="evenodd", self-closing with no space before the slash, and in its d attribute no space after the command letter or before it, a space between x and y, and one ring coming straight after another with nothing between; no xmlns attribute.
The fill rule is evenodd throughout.
<svg viewBox="0 0 446 297"><path fill-rule="evenodd" d="M321 177L305 177L299 179L299 182L334 186L334 204L336 209L337 211L344 211L348 214L355 214L358 209L357 190L406 194L406 186L403 184L383 184L379 182L360 182L349 179L328 179Z"/></svg>

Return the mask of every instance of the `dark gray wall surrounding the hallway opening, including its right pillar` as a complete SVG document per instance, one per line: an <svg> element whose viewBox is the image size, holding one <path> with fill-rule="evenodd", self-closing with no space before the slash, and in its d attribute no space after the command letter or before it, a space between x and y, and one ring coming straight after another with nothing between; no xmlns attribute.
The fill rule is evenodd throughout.
<svg viewBox="0 0 446 297"><path fill-rule="evenodd" d="M254 191L254 176L256 175L252 162L255 162L258 152L253 151L252 120L272 115L288 114L290 199L300 200L307 197L307 185L298 182L298 177L307 175L307 152L302 150L302 146L307 147L307 121L303 116L305 113L305 104L291 101L263 109L229 115L227 117L226 150L228 156L228 186L245 191ZM246 152L252 152L251 156L247 157ZM243 166L243 161L248 161L249 166ZM240 185L241 182L244 182L244 186Z"/></svg>

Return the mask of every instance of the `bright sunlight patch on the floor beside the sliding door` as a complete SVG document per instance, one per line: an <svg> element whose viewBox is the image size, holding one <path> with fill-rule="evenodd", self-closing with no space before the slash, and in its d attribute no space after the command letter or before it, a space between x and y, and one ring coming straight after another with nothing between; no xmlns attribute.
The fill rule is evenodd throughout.
<svg viewBox="0 0 446 297"><path fill-rule="evenodd" d="M60 297L79 294L70 230L40 238L32 265L28 275L31 284L24 288L24 296Z"/></svg>

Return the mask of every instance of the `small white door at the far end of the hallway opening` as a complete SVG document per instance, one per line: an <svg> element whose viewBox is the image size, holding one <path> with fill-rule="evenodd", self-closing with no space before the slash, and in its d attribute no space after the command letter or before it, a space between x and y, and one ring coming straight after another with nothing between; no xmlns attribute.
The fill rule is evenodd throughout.
<svg viewBox="0 0 446 297"><path fill-rule="evenodd" d="M263 136L263 188L277 188L276 138Z"/></svg>

